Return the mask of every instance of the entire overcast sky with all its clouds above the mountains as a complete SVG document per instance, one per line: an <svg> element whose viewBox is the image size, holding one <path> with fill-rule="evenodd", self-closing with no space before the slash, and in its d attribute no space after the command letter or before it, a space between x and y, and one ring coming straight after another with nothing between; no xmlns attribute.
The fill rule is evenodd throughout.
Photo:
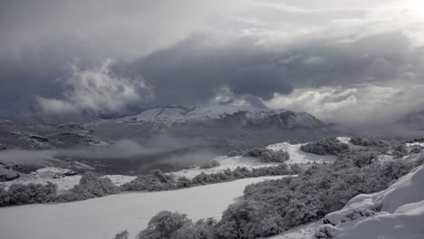
<svg viewBox="0 0 424 239"><path fill-rule="evenodd" d="M0 117L209 103L380 124L424 110L419 0L4 0Z"/></svg>

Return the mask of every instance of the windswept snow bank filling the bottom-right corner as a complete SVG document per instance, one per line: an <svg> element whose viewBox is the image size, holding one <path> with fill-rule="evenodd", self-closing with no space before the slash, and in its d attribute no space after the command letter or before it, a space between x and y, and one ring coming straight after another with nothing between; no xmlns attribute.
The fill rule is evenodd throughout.
<svg viewBox="0 0 424 239"><path fill-rule="evenodd" d="M386 190L353 197L342 210L325 215L338 239L424 238L424 166Z"/></svg>

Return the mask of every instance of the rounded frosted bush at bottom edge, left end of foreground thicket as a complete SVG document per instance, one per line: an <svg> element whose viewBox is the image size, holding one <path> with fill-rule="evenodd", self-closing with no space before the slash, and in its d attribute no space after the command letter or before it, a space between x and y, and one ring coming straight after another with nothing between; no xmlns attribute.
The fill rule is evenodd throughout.
<svg viewBox="0 0 424 239"><path fill-rule="evenodd" d="M161 211L154 215L148 224L148 227L137 235L137 239L169 239L173 238L179 229L185 225L193 225L187 215ZM179 237L178 237L179 238ZM194 237L196 238L196 237Z"/></svg>

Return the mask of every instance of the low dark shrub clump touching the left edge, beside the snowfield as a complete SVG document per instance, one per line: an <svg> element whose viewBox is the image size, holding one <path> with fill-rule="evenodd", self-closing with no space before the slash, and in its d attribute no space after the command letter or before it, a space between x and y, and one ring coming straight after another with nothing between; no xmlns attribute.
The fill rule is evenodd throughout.
<svg viewBox="0 0 424 239"><path fill-rule="evenodd" d="M7 191L0 189L0 206L24 205L50 202L57 186L51 182L41 184L13 184Z"/></svg>

